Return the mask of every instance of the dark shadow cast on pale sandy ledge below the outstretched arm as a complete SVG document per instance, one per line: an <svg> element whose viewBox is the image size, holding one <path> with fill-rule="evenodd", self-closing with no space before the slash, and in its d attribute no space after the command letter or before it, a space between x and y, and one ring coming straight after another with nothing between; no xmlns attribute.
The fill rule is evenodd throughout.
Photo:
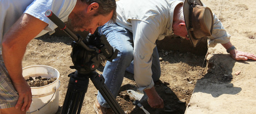
<svg viewBox="0 0 256 114"><path fill-rule="evenodd" d="M208 72L197 81L194 93L202 92L211 94L212 97L219 97L223 94L235 95L241 92L240 87L234 87L232 69L236 62L246 64L245 61L235 61L229 54L213 54L207 61Z"/></svg>

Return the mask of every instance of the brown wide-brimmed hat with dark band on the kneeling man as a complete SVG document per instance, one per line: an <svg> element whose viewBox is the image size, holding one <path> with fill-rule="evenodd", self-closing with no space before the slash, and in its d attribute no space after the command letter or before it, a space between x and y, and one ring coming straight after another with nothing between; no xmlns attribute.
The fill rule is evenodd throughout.
<svg viewBox="0 0 256 114"><path fill-rule="evenodd" d="M200 0L185 0L183 4L184 20L188 37L194 47L204 37L209 37L213 29L213 15Z"/></svg>

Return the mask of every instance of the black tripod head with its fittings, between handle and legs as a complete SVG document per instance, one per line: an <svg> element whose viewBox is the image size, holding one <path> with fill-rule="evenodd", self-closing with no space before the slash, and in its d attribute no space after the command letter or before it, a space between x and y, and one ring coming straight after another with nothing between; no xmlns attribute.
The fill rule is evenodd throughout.
<svg viewBox="0 0 256 114"><path fill-rule="evenodd" d="M78 38L83 39L80 36L78 36ZM76 69L78 72L82 71L89 73L94 71L99 67L102 60L112 62L119 51L109 44L105 35L100 35L98 32L88 34L82 42L86 44L88 48L99 51L88 51L75 41L72 42L71 58L74 66L71 66L70 68Z"/></svg>

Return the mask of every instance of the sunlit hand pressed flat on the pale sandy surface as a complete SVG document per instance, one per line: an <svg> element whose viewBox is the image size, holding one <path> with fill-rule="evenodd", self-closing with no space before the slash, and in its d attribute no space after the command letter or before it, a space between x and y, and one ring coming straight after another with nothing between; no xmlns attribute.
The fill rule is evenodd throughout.
<svg viewBox="0 0 256 114"><path fill-rule="evenodd" d="M234 60L256 60L256 55L248 53L248 52L243 52L239 50L232 50L230 51L230 55Z"/></svg>

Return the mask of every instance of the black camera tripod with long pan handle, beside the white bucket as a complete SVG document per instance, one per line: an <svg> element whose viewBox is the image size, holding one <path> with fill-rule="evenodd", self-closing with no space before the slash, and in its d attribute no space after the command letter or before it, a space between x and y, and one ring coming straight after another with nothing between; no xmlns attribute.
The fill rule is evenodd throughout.
<svg viewBox="0 0 256 114"><path fill-rule="evenodd" d="M70 66L70 68L76 69L76 71L68 75L70 80L61 113L80 113L89 78L112 110L115 113L124 113L105 85L103 76L95 71L101 60L112 62L116 58L118 50L110 46L105 36L99 36L97 33L89 34L86 39L77 37L51 10L47 10L45 15L74 40L71 53L74 66Z"/></svg>

